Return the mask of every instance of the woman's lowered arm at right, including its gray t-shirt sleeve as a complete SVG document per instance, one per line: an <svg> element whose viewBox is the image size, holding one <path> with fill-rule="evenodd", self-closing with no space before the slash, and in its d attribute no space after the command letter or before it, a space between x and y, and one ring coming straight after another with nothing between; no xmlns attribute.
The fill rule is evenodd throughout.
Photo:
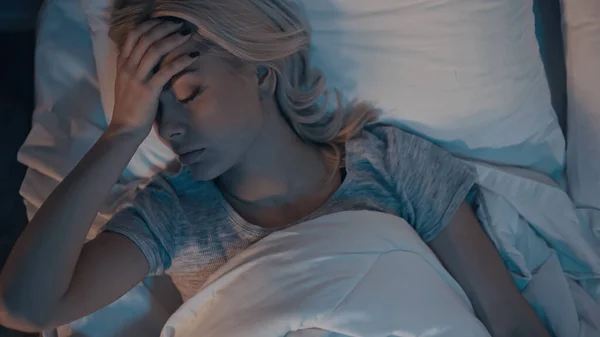
<svg viewBox="0 0 600 337"><path fill-rule="evenodd" d="M371 132L385 149L383 172L389 172L399 202L398 214L458 281L479 319L494 337L549 337L518 289L464 200L476 172L441 147L391 126Z"/></svg>

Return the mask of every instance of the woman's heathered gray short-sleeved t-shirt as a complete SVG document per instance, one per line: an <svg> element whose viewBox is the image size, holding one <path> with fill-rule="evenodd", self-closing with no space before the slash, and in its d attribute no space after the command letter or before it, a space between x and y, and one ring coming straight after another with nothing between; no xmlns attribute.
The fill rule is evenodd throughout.
<svg viewBox="0 0 600 337"><path fill-rule="evenodd" d="M369 126L350 140L345 169L330 200L300 221L349 210L378 211L404 218L429 242L475 190L470 166L393 126ZM245 221L214 183L196 181L185 169L155 178L106 230L139 247L150 275L171 275L184 300L235 254L273 232Z"/></svg>

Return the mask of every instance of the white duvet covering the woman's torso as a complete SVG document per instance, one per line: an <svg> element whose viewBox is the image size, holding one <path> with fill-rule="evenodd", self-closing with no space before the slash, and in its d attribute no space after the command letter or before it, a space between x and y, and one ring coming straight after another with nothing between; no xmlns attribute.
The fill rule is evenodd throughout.
<svg viewBox="0 0 600 337"><path fill-rule="evenodd" d="M177 337L298 336L307 329L335 336L488 336L410 225L383 213L337 213L272 234L207 284L166 330Z"/></svg>

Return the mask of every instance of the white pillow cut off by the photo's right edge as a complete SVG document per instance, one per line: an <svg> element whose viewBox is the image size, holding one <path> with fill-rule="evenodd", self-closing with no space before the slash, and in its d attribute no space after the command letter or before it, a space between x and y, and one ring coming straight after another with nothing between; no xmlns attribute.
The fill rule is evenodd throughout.
<svg viewBox="0 0 600 337"><path fill-rule="evenodd" d="M581 221L600 233L600 2L562 0L567 178Z"/></svg>

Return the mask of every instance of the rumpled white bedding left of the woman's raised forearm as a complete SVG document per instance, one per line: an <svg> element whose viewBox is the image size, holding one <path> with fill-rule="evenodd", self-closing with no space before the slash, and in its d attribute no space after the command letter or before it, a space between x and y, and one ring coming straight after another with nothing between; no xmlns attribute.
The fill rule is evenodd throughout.
<svg viewBox="0 0 600 337"><path fill-rule="evenodd" d="M18 155L29 167L20 192L30 217L106 127L87 21L76 3L44 3L35 67L36 109Z"/></svg>

